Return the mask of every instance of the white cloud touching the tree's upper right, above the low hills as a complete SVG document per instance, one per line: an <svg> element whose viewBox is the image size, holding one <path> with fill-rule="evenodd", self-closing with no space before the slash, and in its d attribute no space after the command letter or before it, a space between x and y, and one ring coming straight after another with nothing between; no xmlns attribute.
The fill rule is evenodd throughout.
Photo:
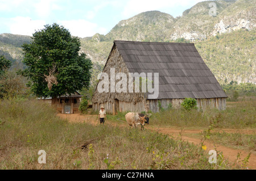
<svg viewBox="0 0 256 181"><path fill-rule="evenodd" d="M106 29L98 27L96 23L88 22L83 19L78 20L64 20L57 22L58 24L67 28L72 36L88 37L96 33L105 34Z"/></svg>

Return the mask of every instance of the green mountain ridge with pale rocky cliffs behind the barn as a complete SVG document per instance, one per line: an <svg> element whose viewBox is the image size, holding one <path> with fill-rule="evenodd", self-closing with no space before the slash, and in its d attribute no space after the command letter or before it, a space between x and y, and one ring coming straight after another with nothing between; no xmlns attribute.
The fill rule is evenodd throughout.
<svg viewBox="0 0 256 181"><path fill-rule="evenodd" d="M212 2L216 3L216 16L209 15ZM142 12L121 20L106 35L96 33L80 38L81 52L94 64L104 64L114 40L193 42L220 83L256 83L255 5L255 0L204 1L176 18L160 11ZM20 45L28 39L31 40L29 36L1 34L0 54L22 61Z"/></svg>

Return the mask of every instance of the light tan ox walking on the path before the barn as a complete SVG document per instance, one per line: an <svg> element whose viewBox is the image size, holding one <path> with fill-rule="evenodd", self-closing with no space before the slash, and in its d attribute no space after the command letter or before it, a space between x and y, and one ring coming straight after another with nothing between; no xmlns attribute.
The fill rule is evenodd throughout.
<svg viewBox="0 0 256 181"><path fill-rule="evenodd" d="M141 129L143 127L143 125L145 125L145 119L146 116L139 116L138 112L128 112L126 115L125 115L125 119L126 119L126 122L131 126L131 127L134 127L134 128L137 128L137 126L139 124L141 124Z"/></svg>

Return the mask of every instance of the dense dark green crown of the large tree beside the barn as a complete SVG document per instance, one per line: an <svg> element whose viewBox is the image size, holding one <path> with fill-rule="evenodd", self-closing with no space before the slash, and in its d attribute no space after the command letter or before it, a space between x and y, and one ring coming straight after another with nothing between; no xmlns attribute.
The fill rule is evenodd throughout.
<svg viewBox="0 0 256 181"><path fill-rule="evenodd" d="M23 44L28 86L37 96L71 94L89 87L92 61L79 53L80 41L63 26L52 24L33 34L31 44Z"/></svg>

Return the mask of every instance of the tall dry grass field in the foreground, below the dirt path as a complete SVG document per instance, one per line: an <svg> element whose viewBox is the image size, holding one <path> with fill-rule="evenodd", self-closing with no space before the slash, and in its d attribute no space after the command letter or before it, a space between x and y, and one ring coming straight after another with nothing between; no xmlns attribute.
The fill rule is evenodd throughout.
<svg viewBox="0 0 256 181"><path fill-rule="evenodd" d="M36 100L3 100L0 120L0 169L240 169L157 132L68 123Z"/></svg>

